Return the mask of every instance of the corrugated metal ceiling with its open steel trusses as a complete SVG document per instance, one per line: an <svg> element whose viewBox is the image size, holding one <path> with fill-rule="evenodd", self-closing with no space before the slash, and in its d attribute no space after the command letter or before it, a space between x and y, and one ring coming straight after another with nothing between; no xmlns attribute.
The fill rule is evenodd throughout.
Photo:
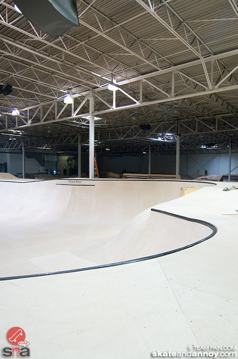
<svg viewBox="0 0 238 359"><path fill-rule="evenodd" d="M25 138L46 134L49 137L52 132L48 132L47 128L53 126L56 136L81 133L84 138L88 138L87 120L83 120L85 124L80 123L82 118L79 117L73 119L74 123L67 119L57 121L59 118L56 118L55 105L51 107L52 103L65 95L62 90L77 96L83 95L85 91L100 88L113 78L118 82L127 82L122 86L127 95L117 91L116 105L131 107L105 112L109 109L105 101L113 105L112 93L105 90L97 92L104 102L95 95L95 111L105 112L100 114L102 125L96 128L96 138L99 132L108 141L112 138L109 142L115 151L119 150L119 141L113 142L115 131L119 131L123 148L136 150L138 143L135 146L132 137L136 141L140 137L144 146L149 145L151 135L141 132L139 124L150 123L151 132L156 135L157 129L163 128L166 132L178 120L186 125L181 127L185 149L187 144L189 150L196 150L199 140L194 141L194 138L199 139L199 133L208 131L200 122L196 122L194 130L193 123L198 120L217 121L217 118L221 118L214 130L209 132L209 140L213 136L216 141L217 133L225 131L224 148L227 148L230 133L234 138L233 143L238 142L238 89L234 87L238 83L238 69L235 69L238 58L238 9L235 12L231 2L172 0L166 3L165 0L144 0L142 3L142 0L96 0L89 6L90 3L78 0L80 26L73 27L61 38L53 39L17 13L14 2L1 2L0 84L8 82L13 85L14 91L8 96L0 95L0 147L2 143L2 148L6 148L6 133L10 133L10 127L26 125L29 119L29 126L24 127ZM224 55L228 51L233 53ZM214 55L217 56L207 59ZM198 60L199 63L192 64ZM172 67L177 65L181 66L176 68L173 82ZM168 69L168 72L164 73L161 71L163 69ZM139 80L131 83L127 81L138 76L142 76L142 94ZM216 93L215 86L220 81L220 89L233 87L229 91ZM209 93L208 90L212 91ZM207 93L201 94L202 91ZM198 95L195 97L196 93ZM80 105L83 96L75 98L74 110ZM142 105L133 107L141 98ZM161 102L164 100L166 102ZM47 101L53 102L47 104ZM151 101L157 103L146 103ZM29 109L30 106L36 107ZM64 106L63 101L58 102L57 106L59 114ZM16 118L11 117L14 108L22 113L18 123ZM86 101L78 115L88 111L89 104ZM8 129L6 120L3 120L6 113L9 114ZM61 112L65 117L71 114L72 109L68 107ZM41 116L46 116L44 121L41 121ZM224 121L230 124L226 128ZM130 127L133 127L133 136L122 136ZM191 136L186 136L185 132L189 129ZM173 130L176 132L176 126ZM58 143L61 143L60 137ZM71 147L67 144L66 148L62 142L62 148L74 150L76 144L72 143ZM58 148L62 149L60 146ZM104 150L103 145L100 150Z"/></svg>

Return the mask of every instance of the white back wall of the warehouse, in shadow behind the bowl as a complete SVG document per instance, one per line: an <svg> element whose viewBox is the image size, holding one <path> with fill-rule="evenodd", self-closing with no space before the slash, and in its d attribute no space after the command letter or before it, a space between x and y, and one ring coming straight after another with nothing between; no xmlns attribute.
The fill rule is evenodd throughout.
<svg viewBox="0 0 238 359"><path fill-rule="evenodd" d="M69 168L67 158L69 156L58 156L57 169L63 174L64 166ZM148 152L145 155L137 156L97 156L99 171L113 171L122 173L148 173ZM0 153L0 163L7 162L7 170L9 173L22 173L22 154L21 153ZM77 162L77 160L76 160ZM49 162L50 163L50 162ZM56 166L56 162L52 162ZM151 155L151 173L175 174L175 155ZM47 164L46 164L47 165ZM232 153L231 169L238 165L238 153ZM72 160L72 168L78 167L78 163ZM47 167L46 167L47 168ZM52 168L55 169L55 168ZM25 157L25 172L32 173L42 170L40 163L35 158ZM225 174L228 171L228 153L214 154L184 154L180 156L180 174L187 174L193 178L199 174ZM88 154L82 153L82 173L88 174ZM238 167L231 172L238 173Z"/></svg>

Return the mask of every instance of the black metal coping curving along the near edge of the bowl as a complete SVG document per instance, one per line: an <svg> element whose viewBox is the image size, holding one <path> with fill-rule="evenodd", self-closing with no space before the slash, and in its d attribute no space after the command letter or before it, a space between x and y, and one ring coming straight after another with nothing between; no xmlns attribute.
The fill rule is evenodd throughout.
<svg viewBox="0 0 238 359"><path fill-rule="evenodd" d="M189 218L189 217L184 217L184 216L180 216L180 215L175 215L173 213L170 212L165 212L165 211L161 211L161 210L156 210L154 208L151 208L151 211L153 212L158 212L158 213L162 213L164 215L168 215L171 217L175 217L175 218L179 218L185 221L189 221L189 222L195 222L195 223L199 223L201 225L207 226L212 230L212 233L205 237L200 239L197 242L188 244L187 246L184 247L180 247L177 249L173 249L172 251L168 251L168 252L164 252L164 253L159 253L159 254L154 254L152 256L147 256L147 257L141 257L141 258L136 258L136 259L130 259L127 261L122 261L122 262L116 262L116 263L110 263L110 264L103 264L103 265L99 265L99 266L93 266L93 267L86 267L86 268L79 268L79 269L69 269L69 270L63 270L63 271L56 271L56 272L49 272L49 273L39 273L39 274L28 274L28 275L19 275L19 276L12 276L12 277L2 277L0 278L0 281L4 281L4 280L12 280L12 279L22 279L22 278L32 278L32 277L43 277L43 276L48 276L48 275L54 275L54 274L64 274L64 273L74 273L74 272L81 272L81 271L86 271L86 270L92 270L92 269L100 269L100 268L108 268L108 267L115 267L115 266L119 266L122 264L129 264L129 263L135 263L135 262L140 262L140 261L145 261L148 259L154 259L154 258L159 258L159 257L163 257L163 256L167 256L168 254L172 254L172 253L176 253L176 252L180 252L183 251L187 248L193 247L201 242L206 241L207 239L213 237L216 233L217 233L217 228L216 226L214 226L213 224L209 223L209 222L205 222L202 220L198 220L198 219L194 219L194 218Z"/></svg>

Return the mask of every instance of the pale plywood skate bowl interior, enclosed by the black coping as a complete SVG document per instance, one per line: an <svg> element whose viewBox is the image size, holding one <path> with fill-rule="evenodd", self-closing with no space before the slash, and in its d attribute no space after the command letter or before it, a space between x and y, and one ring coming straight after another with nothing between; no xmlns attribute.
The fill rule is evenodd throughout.
<svg viewBox="0 0 238 359"><path fill-rule="evenodd" d="M153 209L181 187L209 183L141 180L1 181L0 276L77 270L160 256L216 229Z"/></svg>

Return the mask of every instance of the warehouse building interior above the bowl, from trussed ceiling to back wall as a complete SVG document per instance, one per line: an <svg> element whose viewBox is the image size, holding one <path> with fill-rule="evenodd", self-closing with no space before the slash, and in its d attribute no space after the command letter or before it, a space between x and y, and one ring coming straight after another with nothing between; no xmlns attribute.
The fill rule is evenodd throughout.
<svg viewBox="0 0 238 359"><path fill-rule="evenodd" d="M52 37L0 2L1 171L238 172L236 1L76 3Z"/></svg>

